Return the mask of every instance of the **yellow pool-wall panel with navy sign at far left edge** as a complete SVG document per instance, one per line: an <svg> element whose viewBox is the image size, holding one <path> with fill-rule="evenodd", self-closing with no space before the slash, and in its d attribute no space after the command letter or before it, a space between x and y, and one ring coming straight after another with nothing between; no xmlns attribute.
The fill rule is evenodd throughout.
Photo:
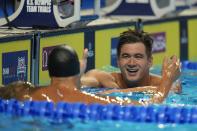
<svg viewBox="0 0 197 131"><path fill-rule="evenodd" d="M17 80L34 81L33 36L30 33L0 38L0 85Z"/></svg>

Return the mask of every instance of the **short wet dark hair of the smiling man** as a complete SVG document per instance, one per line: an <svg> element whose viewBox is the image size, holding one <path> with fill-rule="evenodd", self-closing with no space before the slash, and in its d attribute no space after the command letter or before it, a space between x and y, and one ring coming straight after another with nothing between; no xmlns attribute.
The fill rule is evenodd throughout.
<svg viewBox="0 0 197 131"><path fill-rule="evenodd" d="M133 44L136 42L141 42L146 47L146 54L148 57L152 55L152 44L153 39L150 35L144 31L131 30L128 29L120 34L118 46L117 46L117 55L120 56L120 50L124 44Z"/></svg>

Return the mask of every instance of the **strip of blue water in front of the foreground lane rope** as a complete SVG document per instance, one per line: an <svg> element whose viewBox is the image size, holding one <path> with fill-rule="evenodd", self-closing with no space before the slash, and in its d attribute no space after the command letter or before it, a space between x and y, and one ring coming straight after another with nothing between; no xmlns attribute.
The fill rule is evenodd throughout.
<svg viewBox="0 0 197 131"><path fill-rule="evenodd" d="M127 121L90 121L70 119L63 123L50 123L41 117L13 117L0 115L3 131L195 131L197 124L156 124Z"/></svg>

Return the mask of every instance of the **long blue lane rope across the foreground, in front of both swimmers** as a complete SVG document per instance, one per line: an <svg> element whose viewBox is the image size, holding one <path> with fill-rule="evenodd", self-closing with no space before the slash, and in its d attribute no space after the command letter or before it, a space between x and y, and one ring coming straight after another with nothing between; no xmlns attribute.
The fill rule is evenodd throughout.
<svg viewBox="0 0 197 131"><path fill-rule="evenodd" d="M46 101L17 101L0 99L0 113L14 116L46 117L53 122L69 118L85 120L122 120L146 123L197 123L197 107L164 105L119 106L115 104L83 104Z"/></svg>

